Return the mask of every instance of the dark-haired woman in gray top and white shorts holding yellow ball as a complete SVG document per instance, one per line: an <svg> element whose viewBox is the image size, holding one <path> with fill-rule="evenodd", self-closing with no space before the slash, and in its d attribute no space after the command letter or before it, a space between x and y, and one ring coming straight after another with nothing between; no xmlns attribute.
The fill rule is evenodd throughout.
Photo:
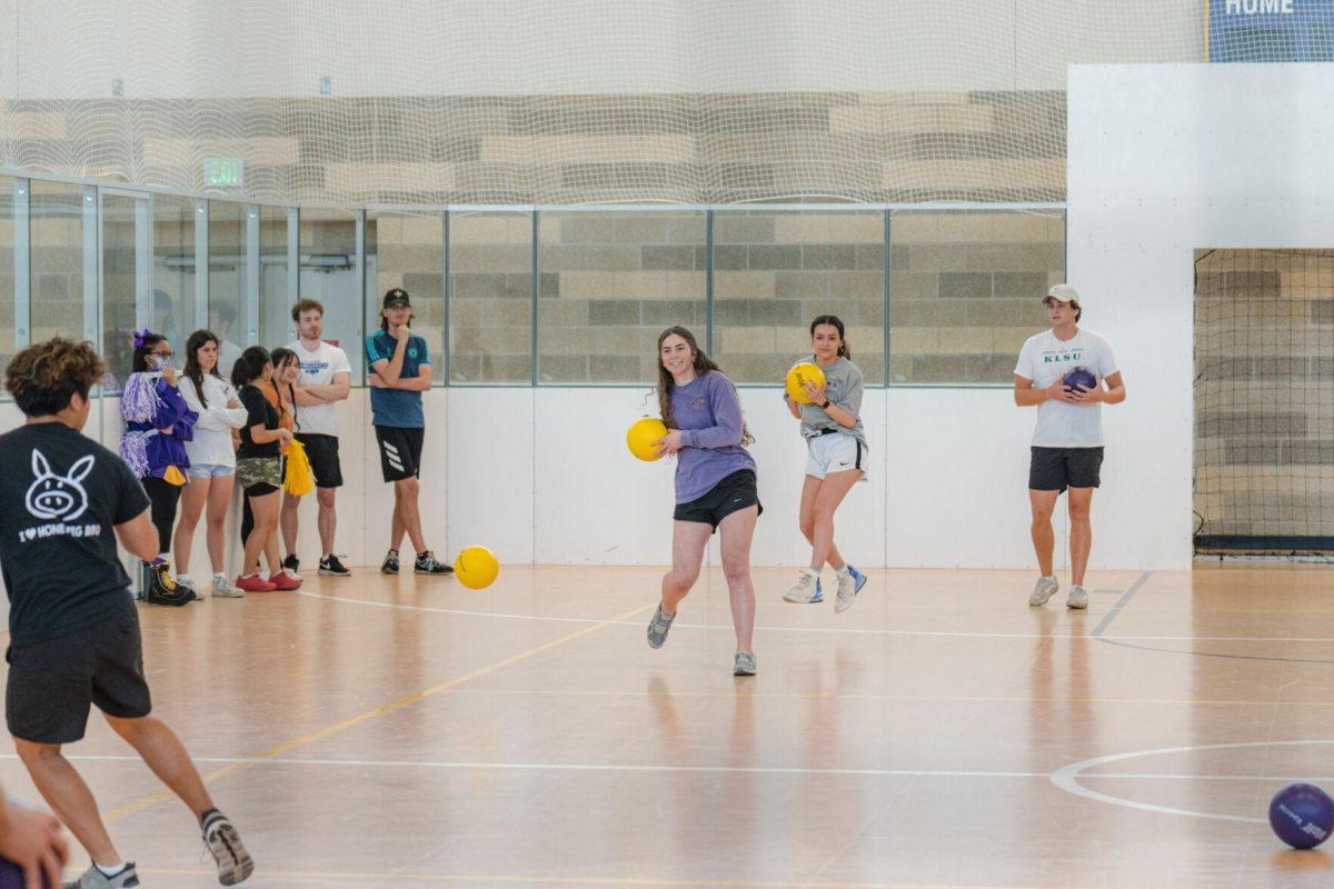
<svg viewBox="0 0 1334 889"><path fill-rule="evenodd" d="M834 545L834 513L852 485L866 480L862 371L851 361L852 349L838 316L820 315L811 321L811 349L815 364L824 372L824 384L806 384L810 404L799 404L783 393L787 409L802 421L808 452L798 521L811 542L811 564L800 570L783 598L799 604L824 601L820 570L828 562L838 573L834 610L846 612L866 585L866 574L847 564Z"/></svg>

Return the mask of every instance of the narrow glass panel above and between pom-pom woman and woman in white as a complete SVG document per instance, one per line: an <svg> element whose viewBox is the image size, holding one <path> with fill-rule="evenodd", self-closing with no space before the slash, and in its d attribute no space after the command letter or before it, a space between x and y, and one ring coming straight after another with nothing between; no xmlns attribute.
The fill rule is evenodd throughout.
<svg viewBox="0 0 1334 889"><path fill-rule="evenodd" d="M153 317L148 327L167 336L180 351L199 329L195 317L195 201L171 195L153 196Z"/></svg>

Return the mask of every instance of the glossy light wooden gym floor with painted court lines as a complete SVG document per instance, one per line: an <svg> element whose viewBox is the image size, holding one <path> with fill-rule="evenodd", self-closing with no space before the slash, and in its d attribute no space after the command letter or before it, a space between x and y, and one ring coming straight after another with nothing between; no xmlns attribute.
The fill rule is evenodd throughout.
<svg viewBox="0 0 1334 889"><path fill-rule="evenodd" d="M791 576L755 572L752 678L718 570L656 652L658 569L312 572L141 618L252 886L1334 881L1265 821L1287 781L1334 789L1331 569L1102 572L1087 613L1065 578L1030 609L1031 572L874 570L846 614L784 604ZM67 752L145 886L216 885L104 722Z"/></svg>

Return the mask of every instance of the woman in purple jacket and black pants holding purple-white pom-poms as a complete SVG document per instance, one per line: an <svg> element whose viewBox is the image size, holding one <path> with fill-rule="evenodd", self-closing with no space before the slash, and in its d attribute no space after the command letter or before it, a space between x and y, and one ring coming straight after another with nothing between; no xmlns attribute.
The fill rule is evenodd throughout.
<svg viewBox="0 0 1334 889"><path fill-rule="evenodd" d="M167 337L147 328L136 331L132 369L120 396L120 415L125 419L120 457L144 485L157 528L157 558L144 565L144 589L148 601L184 604L193 596L176 586L167 553L189 468L185 443L195 437L199 415L189 409L176 388L176 368Z"/></svg>

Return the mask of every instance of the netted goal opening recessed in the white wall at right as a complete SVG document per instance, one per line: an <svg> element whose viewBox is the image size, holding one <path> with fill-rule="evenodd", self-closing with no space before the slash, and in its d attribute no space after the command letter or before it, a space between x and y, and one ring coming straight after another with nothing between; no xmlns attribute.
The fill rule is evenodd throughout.
<svg viewBox="0 0 1334 889"><path fill-rule="evenodd" d="M1195 548L1334 552L1334 251L1195 260Z"/></svg>

